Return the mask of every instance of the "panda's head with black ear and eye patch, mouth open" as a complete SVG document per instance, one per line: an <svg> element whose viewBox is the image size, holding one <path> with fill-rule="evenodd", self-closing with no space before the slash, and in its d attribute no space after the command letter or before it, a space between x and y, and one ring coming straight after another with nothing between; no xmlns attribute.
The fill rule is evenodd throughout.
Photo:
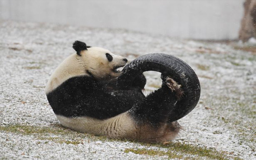
<svg viewBox="0 0 256 160"><path fill-rule="evenodd" d="M125 66L126 58L115 55L109 50L100 47L90 47L84 42L75 41L73 48L76 51L76 59L84 64L84 69L96 79L111 79L118 77L119 67Z"/></svg>

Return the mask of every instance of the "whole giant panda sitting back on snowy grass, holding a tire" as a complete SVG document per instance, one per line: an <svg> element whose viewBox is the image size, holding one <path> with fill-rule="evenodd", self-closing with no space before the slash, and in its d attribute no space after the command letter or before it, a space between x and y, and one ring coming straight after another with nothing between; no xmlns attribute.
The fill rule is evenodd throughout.
<svg viewBox="0 0 256 160"><path fill-rule="evenodd" d="M117 70L127 59L111 51L75 41L76 53L66 58L46 85L46 96L59 122L72 130L143 142L171 141L179 133L168 114L183 95L171 77L162 87L144 96L143 75L128 90L115 85Z"/></svg>

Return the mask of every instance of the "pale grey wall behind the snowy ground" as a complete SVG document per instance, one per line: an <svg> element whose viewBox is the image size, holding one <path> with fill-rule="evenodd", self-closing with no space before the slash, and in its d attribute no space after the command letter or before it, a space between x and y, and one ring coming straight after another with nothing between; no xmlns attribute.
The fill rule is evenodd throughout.
<svg viewBox="0 0 256 160"><path fill-rule="evenodd" d="M0 19L130 29L175 38L238 38L243 0L0 0Z"/></svg>

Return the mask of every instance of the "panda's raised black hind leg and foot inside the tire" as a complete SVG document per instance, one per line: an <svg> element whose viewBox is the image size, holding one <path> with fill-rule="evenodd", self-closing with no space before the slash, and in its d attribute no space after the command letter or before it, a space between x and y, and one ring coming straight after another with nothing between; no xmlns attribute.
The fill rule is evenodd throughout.
<svg viewBox="0 0 256 160"><path fill-rule="evenodd" d="M181 98L183 92L180 87L173 79L163 78L162 87L136 103L129 111L130 114L137 122L158 127L160 123L167 122L173 106Z"/></svg>

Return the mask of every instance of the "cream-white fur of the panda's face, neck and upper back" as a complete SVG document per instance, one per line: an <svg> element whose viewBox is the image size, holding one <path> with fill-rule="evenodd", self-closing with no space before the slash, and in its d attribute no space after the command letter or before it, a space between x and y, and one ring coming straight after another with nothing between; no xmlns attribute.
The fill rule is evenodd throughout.
<svg viewBox="0 0 256 160"><path fill-rule="evenodd" d="M113 60L108 62L105 53L112 55ZM112 79L118 77L120 72L114 70L126 64L124 57L115 55L109 50L100 47L90 47L80 52L81 56L74 53L66 58L53 72L46 85L46 94L54 90L71 77L88 75L88 70L95 78Z"/></svg>

